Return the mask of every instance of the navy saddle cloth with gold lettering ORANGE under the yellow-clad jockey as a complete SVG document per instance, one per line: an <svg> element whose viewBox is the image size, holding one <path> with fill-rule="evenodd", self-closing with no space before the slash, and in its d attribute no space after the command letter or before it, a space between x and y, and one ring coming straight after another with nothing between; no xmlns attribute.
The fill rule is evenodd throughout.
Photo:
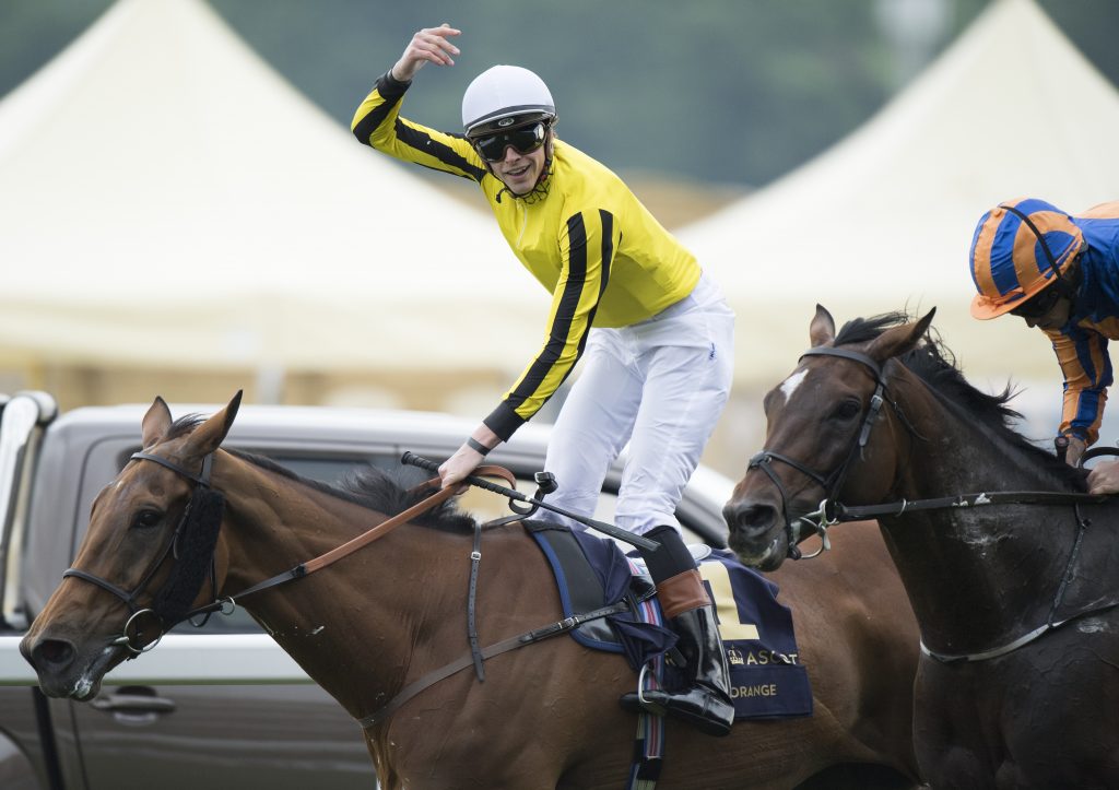
<svg viewBox="0 0 1119 790"><path fill-rule="evenodd" d="M634 669L675 646L676 634L659 624L648 576L634 574L634 564L613 540L546 521L524 524L552 566L564 617L623 599L631 603L629 611L572 631L579 643L622 653ZM777 600L778 586L726 551L712 551L699 563L699 573L715 602L736 718L811 715L808 673L797 649L792 613ZM642 600L656 608L656 622L641 617ZM666 684L671 687L674 678Z"/></svg>

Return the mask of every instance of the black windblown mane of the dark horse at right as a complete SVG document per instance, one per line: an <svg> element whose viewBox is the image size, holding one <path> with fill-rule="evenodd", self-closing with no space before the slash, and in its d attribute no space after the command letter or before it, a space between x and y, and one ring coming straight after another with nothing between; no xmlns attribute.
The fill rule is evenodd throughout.
<svg viewBox="0 0 1119 790"><path fill-rule="evenodd" d="M872 318L856 318L845 323L838 331L835 345L869 342L886 329L912 320L912 317L901 311ZM1008 405L1017 395L1017 389L1007 384L1002 393L988 394L969 384L956 363L956 356L931 327L921 341L899 359L931 389L959 405L968 418L984 423L1003 441L1019 449L1043 469L1076 490L1085 489L1084 470L1070 467L1054 453L1038 446L1017 431L1015 425L1022 420L1022 414Z"/></svg>

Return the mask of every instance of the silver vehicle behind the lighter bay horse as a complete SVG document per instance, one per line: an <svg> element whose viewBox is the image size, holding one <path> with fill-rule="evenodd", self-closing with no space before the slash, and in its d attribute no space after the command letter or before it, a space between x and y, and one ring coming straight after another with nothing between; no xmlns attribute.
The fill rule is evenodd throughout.
<svg viewBox="0 0 1119 790"><path fill-rule="evenodd" d="M39 693L18 641L69 566L94 497L140 449L147 405L57 416L41 393L0 403L0 788L375 787L357 724L242 611L178 627L114 669L91 703ZM171 406L177 417L215 410ZM445 459L473 427L443 414L244 406L226 445L330 481L359 464L398 465L405 450ZM530 493L547 433L526 425L487 461ZM596 514L603 520L620 477L619 464ZM692 539L724 545L720 511L731 488L696 472L678 510ZM505 499L478 490L461 507L481 519L509 512Z"/></svg>

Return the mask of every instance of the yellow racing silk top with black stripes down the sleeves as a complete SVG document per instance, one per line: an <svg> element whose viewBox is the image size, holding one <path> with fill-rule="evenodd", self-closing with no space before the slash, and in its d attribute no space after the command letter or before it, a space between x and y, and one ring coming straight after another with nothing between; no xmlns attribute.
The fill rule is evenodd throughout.
<svg viewBox="0 0 1119 790"><path fill-rule="evenodd" d="M699 265L608 168L557 140L547 181L518 198L461 134L399 115L410 83L385 74L354 115L354 134L397 159L477 181L501 233L552 293L547 336L486 424L508 439L556 392L591 327L624 327L688 295Z"/></svg>

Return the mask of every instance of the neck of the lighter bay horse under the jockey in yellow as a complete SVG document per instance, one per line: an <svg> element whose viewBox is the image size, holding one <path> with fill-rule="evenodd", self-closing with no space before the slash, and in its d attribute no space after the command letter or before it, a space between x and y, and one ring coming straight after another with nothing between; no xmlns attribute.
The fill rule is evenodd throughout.
<svg viewBox="0 0 1119 790"><path fill-rule="evenodd" d="M385 519L247 463L233 488L224 594L326 554ZM399 688L424 643L424 613L445 609L445 586L424 584L424 574L438 565L442 543L462 536L425 529L430 539L406 540L402 530L408 529L415 527L242 604L354 716L378 708Z"/></svg>

